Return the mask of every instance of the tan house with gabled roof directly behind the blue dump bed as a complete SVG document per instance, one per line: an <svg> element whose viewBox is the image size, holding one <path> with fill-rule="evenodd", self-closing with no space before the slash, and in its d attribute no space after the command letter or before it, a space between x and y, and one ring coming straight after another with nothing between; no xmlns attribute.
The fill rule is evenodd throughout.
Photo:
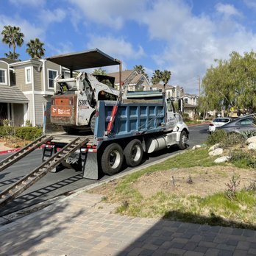
<svg viewBox="0 0 256 256"><path fill-rule="evenodd" d="M119 72L107 74L110 77L115 77L115 88L119 89ZM121 71L121 81L124 82L125 90L141 91L149 90L150 83L144 74L138 74L135 70Z"/></svg>

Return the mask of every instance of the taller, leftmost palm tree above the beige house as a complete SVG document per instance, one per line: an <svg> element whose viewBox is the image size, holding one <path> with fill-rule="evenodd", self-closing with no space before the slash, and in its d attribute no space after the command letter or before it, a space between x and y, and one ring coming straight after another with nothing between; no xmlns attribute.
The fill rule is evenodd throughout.
<svg viewBox="0 0 256 256"><path fill-rule="evenodd" d="M15 52L16 45L22 46L24 42L24 34L21 33L21 29L18 26L4 26L3 31L1 32L3 35L2 42L6 43L9 48L13 46L13 52L9 54L5 54L5 56L9 57L10 59L16 60L18 59L19 54Z"/></svg>

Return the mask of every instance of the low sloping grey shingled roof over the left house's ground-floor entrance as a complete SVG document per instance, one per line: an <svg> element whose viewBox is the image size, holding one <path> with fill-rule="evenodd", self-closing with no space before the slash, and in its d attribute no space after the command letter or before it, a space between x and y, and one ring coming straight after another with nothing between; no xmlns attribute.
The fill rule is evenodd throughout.
<svg viewBox="0 0 256 256"><path fill-rule="evenodd" d="M1 103L27 103L29 100L17 86L0 85Z"/></svg>

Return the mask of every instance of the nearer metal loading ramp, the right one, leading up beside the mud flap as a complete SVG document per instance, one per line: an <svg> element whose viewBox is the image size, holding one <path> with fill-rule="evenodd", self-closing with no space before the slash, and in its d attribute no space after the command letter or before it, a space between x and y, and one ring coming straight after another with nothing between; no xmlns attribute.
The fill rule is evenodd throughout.
<svg viewBox="0 0 256 256"><path fill-rule="evenodd" d="M0 206L6 205L7 202L15 199L19 194L27 188L35 184L39 179L44 177L51 169L59 165L63 160L68 158L73 152L88 142L88 138L75 138L74 141L68 143L59 152L50 157L46 162L42 163L22 179L15 182L9 188L0 193Z"/></svg>

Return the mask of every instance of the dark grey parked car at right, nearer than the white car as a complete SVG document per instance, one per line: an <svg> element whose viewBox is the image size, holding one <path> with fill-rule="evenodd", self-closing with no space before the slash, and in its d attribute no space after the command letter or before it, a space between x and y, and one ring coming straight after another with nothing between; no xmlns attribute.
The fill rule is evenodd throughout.
<svg viewBox="0 0 256 256"><path fill-rule="evenodd" d="M240 116L221 127L216 127L216 129L224 129L226 132L238 133L256 131L256 113Z"/></svg>

